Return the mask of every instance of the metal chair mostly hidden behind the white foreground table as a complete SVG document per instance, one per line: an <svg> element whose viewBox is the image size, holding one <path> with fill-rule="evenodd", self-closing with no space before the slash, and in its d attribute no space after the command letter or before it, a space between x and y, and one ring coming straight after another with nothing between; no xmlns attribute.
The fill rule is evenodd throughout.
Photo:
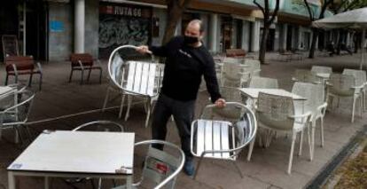
<svg viewBox="0 0 367 189"><path fill-rule="evenodd" d="M98 120L93 122L86 122L82 125L76 127L73 131L103 131L103 132L123 132L124 128L120 123L112 122L112 121L105 121L105 120ZM94 188L93 180L90 177L79 177L75 179L66 179L65 182L68 185L74 185L77 183L82 183L83 181L90 180L91 185ZM114 185L114 180L113 180ZM102 178L98 179L98 189L102 188Z"/></svg>

